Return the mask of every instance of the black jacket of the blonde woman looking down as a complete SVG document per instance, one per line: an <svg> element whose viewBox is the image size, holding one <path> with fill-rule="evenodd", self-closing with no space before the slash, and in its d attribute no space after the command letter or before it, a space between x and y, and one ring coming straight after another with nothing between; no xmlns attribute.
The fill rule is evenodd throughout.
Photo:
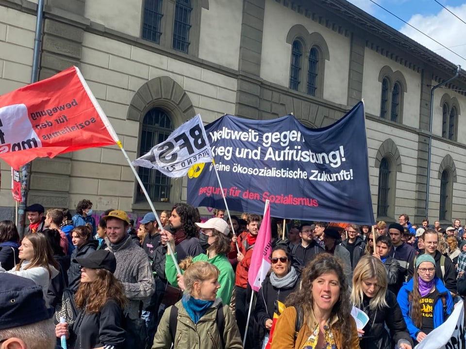
<svg viewBox="0 0 466 349"><path fill-rule="evenodd" d="M397 344L400 339L404 339L413 346L413 342L397 302L397 297L393 292L387 291L385 301L388 307L370 310L369 298L364 296L364 309L362 310L369 317L369 322L367 322L363 329L364 335L359 339L359 347L361 349L391 349L394 347L392 345L392 339L395 344ZM385 329L385 324L390 334Z"/></svg>

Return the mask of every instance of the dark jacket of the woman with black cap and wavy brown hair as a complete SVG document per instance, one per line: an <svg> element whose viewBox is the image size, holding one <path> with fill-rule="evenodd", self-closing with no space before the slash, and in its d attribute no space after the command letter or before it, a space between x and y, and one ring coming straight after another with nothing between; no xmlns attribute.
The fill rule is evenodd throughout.
<svg viewBox="0 0 466 349"><path fill-rule="evenodd" d="M98 348L106 345L123 349L125 330L123 329L123 312L118 303L107 300L97 314L79 312L73 328L70 329L68 348Z"/></svg>

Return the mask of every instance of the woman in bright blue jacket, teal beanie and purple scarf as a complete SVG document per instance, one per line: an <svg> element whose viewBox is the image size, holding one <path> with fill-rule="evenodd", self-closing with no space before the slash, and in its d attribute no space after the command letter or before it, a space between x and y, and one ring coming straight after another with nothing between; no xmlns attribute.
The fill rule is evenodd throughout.
<svg viewBox="0 0 466 349"><path fill-rule="evenodd" d="M421 254L417 257L414 276L403 284L397 301L415 344L443 324L451 314L453 299L447 287L435 275L435 260L431 255Z"/></svg>

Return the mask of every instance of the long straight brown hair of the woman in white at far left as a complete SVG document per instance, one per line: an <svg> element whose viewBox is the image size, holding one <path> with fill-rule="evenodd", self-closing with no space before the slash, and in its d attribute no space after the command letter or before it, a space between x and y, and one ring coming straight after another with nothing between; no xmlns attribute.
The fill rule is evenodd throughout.
<svg viewBox="0 0 466 349"><path fill-rule="evenodd" d="M49 239L42 233L29 234L27 237L24 237L23 240L24 239L28 239L31 245L33 245L33 258L24 269L43 267L49 271L49 277L52 277L50 266L54 267L56 270L59 270L60 267L55 259L53 259L53 251ZM16 270L21 268L24 261L25 259L21 259L16 266Z"/></svg>

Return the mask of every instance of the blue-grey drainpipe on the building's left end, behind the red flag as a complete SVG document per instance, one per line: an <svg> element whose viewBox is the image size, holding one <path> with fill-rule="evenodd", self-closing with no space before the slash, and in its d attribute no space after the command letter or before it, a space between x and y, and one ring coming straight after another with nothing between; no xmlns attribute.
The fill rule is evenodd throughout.
<svg viewBox="0 0 466 349"><path fill-rule="evenodd" d="M35 23L35 38L34 38L34 52L33 52L33 69L31 74L31 83L36 82L39 79L39 63L40 63L40 48L42 45L42 24L44 21L44 2L45 0L39 0L37 4L37 15ZM18 233L19 237L24 236L24 221L25 221L25 209L29 190L29 174L30 174L31 163L27 163L22 167L22 179L21 179L21 196L22 201L18 207Z"/></svg>

